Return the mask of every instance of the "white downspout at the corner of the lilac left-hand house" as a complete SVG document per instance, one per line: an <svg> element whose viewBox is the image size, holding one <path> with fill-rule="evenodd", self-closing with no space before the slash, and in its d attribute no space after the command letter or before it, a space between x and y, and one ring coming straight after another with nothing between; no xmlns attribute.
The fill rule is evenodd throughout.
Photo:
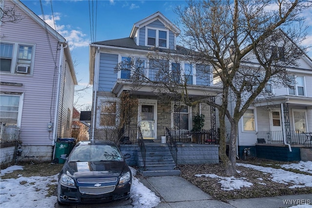
<svg viewBox="0 0 312 208"><path fill-rule="evenodd" d="M59 79L58 79L58 85L57 85L57 94L56 94L56 102L55 102L55 114L54 114L54 125L53 125L53 140L52 145L54 145L53 150L53 159L55 157L55 142L57 141L57 130L58 130L58 122L59 122L59 92L60 92L60 81L61 81L61 72L62 72L62 62L63 62L63 54L64 54L64 48L67 48L68 44L66 44L65 47L63 47L63 43L60 43L60 54L59 54Z"/></svg>

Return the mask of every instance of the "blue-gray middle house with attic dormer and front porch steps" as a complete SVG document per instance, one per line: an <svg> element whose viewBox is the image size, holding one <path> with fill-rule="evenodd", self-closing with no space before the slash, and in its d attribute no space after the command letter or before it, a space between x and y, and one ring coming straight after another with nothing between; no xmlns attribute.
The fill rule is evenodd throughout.
<svg viewBox="0 0 312 208"><path fill-rule="evenodd" d="M207 83L188 60L162 60L167 65L160 69L156 60L149 59L155 46L159 54L182 54L183 48L176 45L179 33L171 21L156 12L134 23L127 38L90 44L94 102L90 138L120 142L122 151L131 151L133 156L128 163L140 166L145 175L178 174L176 164L218 163L215 109L201 103L188 106L175 95L163 102L148 82L133 86L132 79L140 79L134 76L133 68L139 66L146 80L156 79L159 70L178 70L188 78L188 95L194 99L214 99L221 92L213 86L211 74ZM120 63L124 67L117 70ZM199 115L205 116L204 125L195 134L194 118Z"/></svg>

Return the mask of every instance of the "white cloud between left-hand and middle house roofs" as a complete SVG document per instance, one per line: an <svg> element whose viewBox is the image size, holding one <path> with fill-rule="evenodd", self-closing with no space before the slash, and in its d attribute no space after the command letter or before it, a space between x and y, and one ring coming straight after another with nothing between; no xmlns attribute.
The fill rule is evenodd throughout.
<svg viewBox="0 0 312 208"><path fill-rule="evenodd" d="M68 42L70 48L73 50L76 47L88 46L91 42L81 30L71 29L71 25L58 25L56 22L60 21L60 14L55 13L52 15L45 15L45 22L55 29L61 36L63 36Z"/></svg>

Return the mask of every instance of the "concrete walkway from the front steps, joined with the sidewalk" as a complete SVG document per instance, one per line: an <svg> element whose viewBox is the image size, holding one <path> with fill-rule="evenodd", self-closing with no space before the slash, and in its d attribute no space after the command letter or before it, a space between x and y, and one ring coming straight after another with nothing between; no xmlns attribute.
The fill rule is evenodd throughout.
<svg viewBox="0 0 312 208"><path fill-rule="evenodd" d="M156 208L286 208L299 204L311 204L300 208L312 208L312 193L266 198L235 199L226 203L215 199L179 176L140 178L140 182L160 197ZM68 208L133 208L132 200L113 203L75 205ZM58 204L56 208L60 208ZM66 207L66 206L65 206ZM64 207L63 207L64 208Z"/></svg>

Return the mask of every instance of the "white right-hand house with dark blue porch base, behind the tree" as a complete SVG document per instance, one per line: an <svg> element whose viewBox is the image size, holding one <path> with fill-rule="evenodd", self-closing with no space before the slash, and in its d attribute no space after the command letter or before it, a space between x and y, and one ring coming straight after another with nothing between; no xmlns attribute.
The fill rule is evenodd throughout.
<svg viewBox="0 0 312 208"><path fill-rule="evenodd" d="M274 79L270 80L264 90L272 93L272 97L259 95L240 119L237 136L240 158L256 156L297 161L307 160L310 154L308 158L312 159L309 151L312 147L312 60L304 54L298 63L299 66L287 67L287 71L295 75L293 88L274 86ZM253 59L246 64L259 67ZM218 80L215 77L216 85ZM231 99L228 109L233 112ZM226 125L229 132L231 126Z"/></svg>

